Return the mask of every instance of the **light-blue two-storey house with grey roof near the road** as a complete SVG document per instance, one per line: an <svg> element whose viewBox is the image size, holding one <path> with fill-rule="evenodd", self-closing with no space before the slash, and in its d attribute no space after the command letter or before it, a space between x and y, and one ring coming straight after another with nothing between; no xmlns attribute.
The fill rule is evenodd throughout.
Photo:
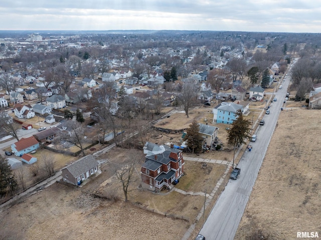
<svg viewBox="0 0 321 240"><path fill-rule="evenodd" d="M216 120L217 123L232 124L237 117L237 110L243 112L243 106L236 103L222 102L213 109L213 122Z"/></svg>

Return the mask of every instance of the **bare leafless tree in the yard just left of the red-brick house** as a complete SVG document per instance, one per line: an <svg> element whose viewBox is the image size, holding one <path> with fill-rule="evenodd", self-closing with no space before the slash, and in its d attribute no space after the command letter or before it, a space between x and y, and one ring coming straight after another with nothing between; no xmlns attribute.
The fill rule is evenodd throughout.
<svg viewBox="0 0 321 240"><path fill-rule="evenodd" d="M139 162L140 158L140 154L134 150L130 150L122 164L115 164L116 177L122 185L125 202L128 201L128 192L135 190L135 188L129 189L129 186L138 179L138 174L135 174L135 172L138 173L135 166Z"/></svg>

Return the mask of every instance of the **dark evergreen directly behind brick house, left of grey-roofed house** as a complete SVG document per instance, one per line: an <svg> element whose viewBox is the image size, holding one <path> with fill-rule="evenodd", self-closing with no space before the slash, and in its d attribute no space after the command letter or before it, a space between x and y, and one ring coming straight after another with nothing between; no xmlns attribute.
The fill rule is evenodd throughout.
<svg viewBox="0 0 321 240"><path fill-rule="evenodd" d="M202 151L203 137L199 133L200 126L196 120L193 120L190 128L186 130L184 140L187 140L187 146L192 149L193 153Z"/></svg>

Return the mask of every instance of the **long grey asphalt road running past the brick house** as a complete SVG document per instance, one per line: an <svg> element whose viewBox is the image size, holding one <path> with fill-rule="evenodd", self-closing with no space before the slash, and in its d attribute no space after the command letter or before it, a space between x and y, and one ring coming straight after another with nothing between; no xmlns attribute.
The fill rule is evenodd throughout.
<svg viewBox="0 0 321 240"><path fill-rule="evenodd" d="M257 140L250 143L252 150L244 152L238 163L240 175L236 180L229 180L200 231L207 240L234 239L283 107L288 84L288 78L279 82L274 89L277 101L270 104L270 114L262 111L260 116L264 115L265 124L259 125L255 132ZM282 85L282 89L278 89L279 85Z"/></svg>

